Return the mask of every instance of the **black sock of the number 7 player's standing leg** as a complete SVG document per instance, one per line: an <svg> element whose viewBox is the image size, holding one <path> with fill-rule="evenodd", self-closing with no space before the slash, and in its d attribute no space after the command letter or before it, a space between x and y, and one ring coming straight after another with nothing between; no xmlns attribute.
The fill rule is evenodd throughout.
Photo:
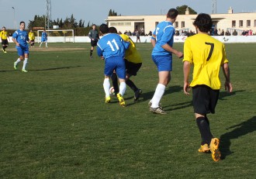
<svg viewBox="0 0 256 179"><path fill-rule="evenodd" d="M201 134L202 143L201 145L207 143L211 143L211 140L213 138L213 135L209 129L209 123L207 122L206 118L199 117L196 119L197 126L199 128L199 132Z"/></svg>

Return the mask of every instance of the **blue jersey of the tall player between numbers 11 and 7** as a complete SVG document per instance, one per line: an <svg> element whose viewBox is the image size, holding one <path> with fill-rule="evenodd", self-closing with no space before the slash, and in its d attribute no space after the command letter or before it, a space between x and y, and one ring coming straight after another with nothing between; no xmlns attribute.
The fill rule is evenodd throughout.
<svg viewBox="0 0 256 179"><path fill-rule="evenodd" d="M173 36L175 36L175 27L172 26L171 22L163 21L157 24L153 36L151 37L152 39L156 40L152 55L170 55L171 52L164 50L162 46L168 43L168 45L172 47Z"/></svg>

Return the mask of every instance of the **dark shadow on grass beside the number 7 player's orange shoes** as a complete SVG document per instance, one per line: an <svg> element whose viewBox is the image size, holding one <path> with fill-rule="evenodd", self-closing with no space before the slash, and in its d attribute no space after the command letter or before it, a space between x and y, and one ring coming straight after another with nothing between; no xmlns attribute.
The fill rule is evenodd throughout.
<svg viewBox="0 0 256 179"><path fill-rule="evenodd" d="M233 130L220 136L220 152L222 159L225 159L228 155L232 154L230 151L231 139L237 139L240 136L245 136L248 133L253 133L256 130L256 116L235 126L230 126L227 129Z"/></svg>

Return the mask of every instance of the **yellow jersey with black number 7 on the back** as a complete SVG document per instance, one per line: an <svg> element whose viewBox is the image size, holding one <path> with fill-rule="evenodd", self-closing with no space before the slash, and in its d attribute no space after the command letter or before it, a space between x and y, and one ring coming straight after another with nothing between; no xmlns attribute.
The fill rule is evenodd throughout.
<svg viewBox="0 0 256 179"><path fill-rule="evenodd" d="M220 67L228 63L223 43L207 34L189 36L184 43L184 61L194 66L191 87L205 84L220 89Z"/></svg>

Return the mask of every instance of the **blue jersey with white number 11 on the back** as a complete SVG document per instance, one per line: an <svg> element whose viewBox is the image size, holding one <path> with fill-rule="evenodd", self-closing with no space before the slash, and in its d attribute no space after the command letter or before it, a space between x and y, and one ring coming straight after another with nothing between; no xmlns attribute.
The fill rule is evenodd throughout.
<svg viewBox="0 0 256 179"><path fill-rule="evenodd" d="M124 57L126 49L130 43L126 42L116 33L107 33L97 43L97 53L105 60L109 57Z"/></svg>

